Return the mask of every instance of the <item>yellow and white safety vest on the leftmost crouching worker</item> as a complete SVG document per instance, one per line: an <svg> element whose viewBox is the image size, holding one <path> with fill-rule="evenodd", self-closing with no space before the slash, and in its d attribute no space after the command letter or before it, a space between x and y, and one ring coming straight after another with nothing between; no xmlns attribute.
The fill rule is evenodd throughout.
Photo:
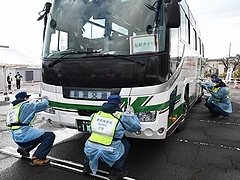
<svg viewBox="0 0 240 180"><path fill-rule="evenodd" d="M28 101L26 101L28 102ZM22 124L19 123L19 113L20 113L20 108L21 106L26 103L19 103L16 106L14 106L7 114L7 120L6 120L6 125L8 127L11 127L11 130L16 130L19 129L21 126L32 126L31 123L30 124ZM33 117L34 119L34 117ZM32 119L32 120L33 120Z"/></svg>

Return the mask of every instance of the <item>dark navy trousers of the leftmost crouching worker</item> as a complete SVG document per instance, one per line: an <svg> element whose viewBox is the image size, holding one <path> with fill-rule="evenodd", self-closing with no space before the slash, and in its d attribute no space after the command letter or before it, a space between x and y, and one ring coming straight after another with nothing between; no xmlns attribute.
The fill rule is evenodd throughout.
<svg viewBox="0 0 240 180"><path fill-rule="evenodd" d="M30 152L37 147L33 156L45 160L48 153L52 149L53 142L55 140L55 134L53 132L45 132L43 135L26 143L17 143L19 147Z"/></svg>

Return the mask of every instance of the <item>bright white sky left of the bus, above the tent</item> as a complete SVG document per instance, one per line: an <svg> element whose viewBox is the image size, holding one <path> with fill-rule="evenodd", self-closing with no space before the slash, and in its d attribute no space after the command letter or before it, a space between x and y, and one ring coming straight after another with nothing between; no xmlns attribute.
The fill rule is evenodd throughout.
<svg viewBox="0 0 240 180"><path fill-rule="evenodd" d="M37 21L46 0L0 1L0 45L8 45L41 62L43 21Z"/></svg>

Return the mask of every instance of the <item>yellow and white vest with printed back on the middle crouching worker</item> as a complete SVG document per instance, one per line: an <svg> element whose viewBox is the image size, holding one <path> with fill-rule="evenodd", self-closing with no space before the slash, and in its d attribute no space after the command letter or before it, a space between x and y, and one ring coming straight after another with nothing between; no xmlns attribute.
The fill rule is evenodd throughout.
<svg viewBox="0 0 240 180"><path fill-rule="evenodd" d="M90 124L92 133L88 140L106 146L111 145L121 115L120 112L110 114L99 111L95 113Z"/></svg>

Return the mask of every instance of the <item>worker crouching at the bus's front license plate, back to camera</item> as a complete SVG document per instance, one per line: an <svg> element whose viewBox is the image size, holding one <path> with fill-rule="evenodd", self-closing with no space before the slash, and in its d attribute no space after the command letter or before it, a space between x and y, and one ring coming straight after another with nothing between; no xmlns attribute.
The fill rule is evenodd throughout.
<svg viewBox="0 0 240 180"><path fill-rule="evenodd" d="M109 179L115 180L127 175L123 165L130 149L130 143L124 139L124 132L136 132L141 124L133 108L121 110L121 97L111 95L102 105L102 111L91 115L90 137L85 143L84 174L96 174L99 162L111 167Z"/></svg>

